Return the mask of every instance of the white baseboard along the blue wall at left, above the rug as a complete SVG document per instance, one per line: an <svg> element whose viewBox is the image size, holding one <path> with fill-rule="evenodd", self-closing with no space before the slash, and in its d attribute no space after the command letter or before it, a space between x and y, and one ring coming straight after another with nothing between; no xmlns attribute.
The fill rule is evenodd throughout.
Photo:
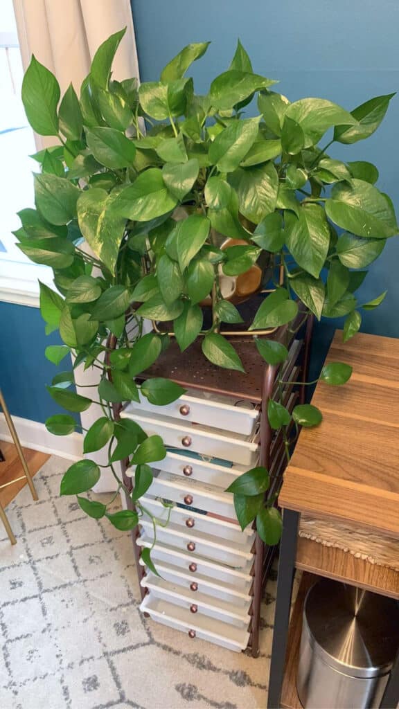
<svg viewBox="0 0 399 709"><path fill-rule="evenodd" d="M58 455L68 460L80 460L83 457L83 435L72 433L69 436L55 436L45 428L44 423L28 418L13 416L13 423L21 445L32 450L39 450L49 455ZM4 413L0 413L0 440L12 441Z"/></svg>

